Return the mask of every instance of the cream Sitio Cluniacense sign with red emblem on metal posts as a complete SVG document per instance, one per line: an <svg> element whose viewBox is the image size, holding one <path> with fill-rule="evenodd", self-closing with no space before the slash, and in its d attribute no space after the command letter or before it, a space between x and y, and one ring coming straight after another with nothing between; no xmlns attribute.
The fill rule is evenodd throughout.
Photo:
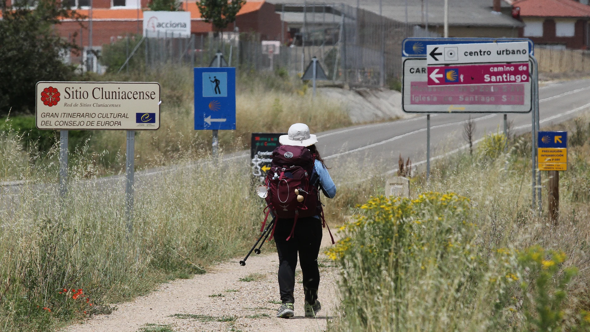
<svg viewBox="0 0 590 332"><path fill-rule="evenodd" d="M47 130L156 130L160 84L39 82L35 120Z"/></svg>

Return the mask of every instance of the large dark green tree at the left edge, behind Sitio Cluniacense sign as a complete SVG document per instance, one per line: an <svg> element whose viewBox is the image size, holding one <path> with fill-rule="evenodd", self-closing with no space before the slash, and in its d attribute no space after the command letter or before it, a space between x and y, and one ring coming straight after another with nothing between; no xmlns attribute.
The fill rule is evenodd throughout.
<svg viewBox="0 0 590 332"><path fill-rule="evenodd" d="M11 109L31 113L38 81L64 81L74 74L75 68L62 58L78 46L57 35L54 25L63 18L83 17L59 0L38 0L34 9L29 1L17 0L12 6L0 1L0 116Z"/></svg>

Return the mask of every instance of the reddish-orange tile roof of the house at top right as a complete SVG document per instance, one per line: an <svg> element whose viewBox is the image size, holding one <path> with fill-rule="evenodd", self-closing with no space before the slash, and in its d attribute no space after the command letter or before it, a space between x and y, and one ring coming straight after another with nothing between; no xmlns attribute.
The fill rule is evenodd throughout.
<svg viewBox="0 0 590 332"><path fill-rule="evenodd" d="M520 0L521 17L590 17L590 6L573 0Z"/></svg>

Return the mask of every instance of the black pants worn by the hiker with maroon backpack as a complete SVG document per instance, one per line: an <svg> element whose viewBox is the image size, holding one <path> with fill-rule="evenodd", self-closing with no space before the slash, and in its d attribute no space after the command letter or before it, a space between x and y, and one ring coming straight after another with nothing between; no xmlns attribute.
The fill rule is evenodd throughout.
<svg viewBox="0 0 590 332"><path fill-rule="evenodd" d="M317 268L317 254L322 244L322 221L314 217L297 219L293 236L287 237L293 228L293 219L278 219L274 231L274 241L278 252L278 287L283 303L294 303L295 267L297 252L303 273L305 300L316 302L317 288L320 285L320 271Z"/></svg>

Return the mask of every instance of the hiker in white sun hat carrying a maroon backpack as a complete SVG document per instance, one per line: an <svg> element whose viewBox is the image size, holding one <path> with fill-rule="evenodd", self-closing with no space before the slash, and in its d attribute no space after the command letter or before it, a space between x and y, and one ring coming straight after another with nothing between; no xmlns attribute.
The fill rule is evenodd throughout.
<svg viewBox="0 0 590 332"><path fill-rule="evenodd" d="M280 136L278 142L281 146L273 152L273 164L267 176L267 183L271 188L270 195L276 196L267 199L267 202L272 202L274 214L278 218L274 239L279 261L278 286L283 304L278 309L277 317L290 318L294 315L293 291L297 253L303 274L305 316L315 317L322 308L317 300L320 284L317 255L322 242L322 225L325 226L319 189L322 189L323 195L327 198L334 198L336 185L317 151L317 137L309 133L306 124L293 124L289 128L289 134ZM300 172L303 176L297 180ZM273 191L273 182L277 183L276 193ZM293 200L290 200L291 198ZM293 206L294 218L284 218L291 213Z"/></svg>

